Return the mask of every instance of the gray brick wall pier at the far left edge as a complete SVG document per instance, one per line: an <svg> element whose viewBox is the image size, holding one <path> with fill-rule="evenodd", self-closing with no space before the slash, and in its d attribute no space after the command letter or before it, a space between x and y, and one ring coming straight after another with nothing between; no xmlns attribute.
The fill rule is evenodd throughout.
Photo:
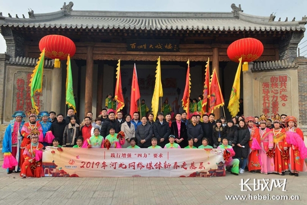
<svg viewBox="0 0 307 205"><path fill-rule="evenodd" d="M5 76L6 76L5 60L9 60L9 56L7 54L0 53L0 124L3 123Z"/></svg>

